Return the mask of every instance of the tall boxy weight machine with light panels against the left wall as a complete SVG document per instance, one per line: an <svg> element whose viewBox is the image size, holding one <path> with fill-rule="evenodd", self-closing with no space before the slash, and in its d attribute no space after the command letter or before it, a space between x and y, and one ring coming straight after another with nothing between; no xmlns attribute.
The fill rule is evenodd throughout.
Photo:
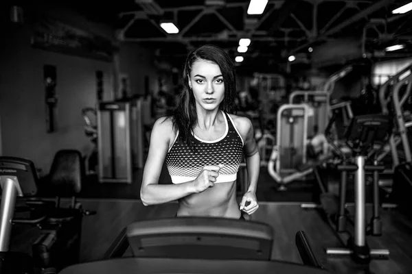
<svg viewBox="0 0 412 274"><path fill-rule="evenodd" d="M143 99L101 102L98 108L99 182L128 183L144 166Z"/></svg>

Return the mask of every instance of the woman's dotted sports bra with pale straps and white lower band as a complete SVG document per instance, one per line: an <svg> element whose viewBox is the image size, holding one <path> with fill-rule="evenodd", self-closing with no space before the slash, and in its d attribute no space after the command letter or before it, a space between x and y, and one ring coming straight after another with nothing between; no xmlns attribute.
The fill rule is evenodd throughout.
<svg viewBox="0 0 412 274"><path fill-rule="evenodd" d="M243 158L243 139L231 117L222 112L226 131L217 140L202 140L194 133L192 151L181 138L179 132L166 155L165 162L173 184L181 184L196 179L204 166L223 164L215 183L232 182L238 175L239 164Z"/></svg>

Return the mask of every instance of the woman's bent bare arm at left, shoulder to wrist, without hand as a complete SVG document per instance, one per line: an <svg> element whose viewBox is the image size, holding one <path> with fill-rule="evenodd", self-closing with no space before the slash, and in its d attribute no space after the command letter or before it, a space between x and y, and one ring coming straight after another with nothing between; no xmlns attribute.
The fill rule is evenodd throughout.
<svg viewBox="0 0 412 274"><path fill-rule="evenodd" d="M150 147L141 182L140 199L144 206L175 201L196 192L192 182L183 184L159 184L159 177L172 134L170 119L157 119L150 136Z"/></svg>

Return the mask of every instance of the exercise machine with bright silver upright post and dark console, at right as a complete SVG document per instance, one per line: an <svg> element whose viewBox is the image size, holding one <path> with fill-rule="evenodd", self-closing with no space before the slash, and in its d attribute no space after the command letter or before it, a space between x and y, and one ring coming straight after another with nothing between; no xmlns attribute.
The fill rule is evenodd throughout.
<svg viewBox="0 0 412 274"><path fill-rule="evenodd" d="M385 143L389 138L392 129L391 118L382 114L369 114L355 116L345 134L347 147L352 150L352 157L345 158L339 148L335 147L343 157L343 162L336 166L341 171L341 184L339 190L339 206L337 214L331 214L334 210L328 209L328 204L323 203L323 209L328 212L328 221L334 230L338 233L347 232L347 214L345 212L347 179L349 173L354 173L354 235L344 243L343 237L339 239L345 248L328 248L326 253L330 256L351 255L355 262L367 264L372 258L387 259L389 251L387 249L369 249L366 242L367 225L365 222L365 173L371 172L374 176L374 216L371 221L371 234L380 235L382 225L380 221L380 201L378 193L379 173L385 169L385 166L374 161L367 164L367 155L375 145ZM331 144L333 146L333 144ZM320 182L320 187L324 188ZM322 190L325 194L326 190ZM325 201L325 199L323 200ZM330 206L330 205L329 205ZM302 205L302 208L311 208L317 206ZM332 220L331 220L332 219Z"/></svg>

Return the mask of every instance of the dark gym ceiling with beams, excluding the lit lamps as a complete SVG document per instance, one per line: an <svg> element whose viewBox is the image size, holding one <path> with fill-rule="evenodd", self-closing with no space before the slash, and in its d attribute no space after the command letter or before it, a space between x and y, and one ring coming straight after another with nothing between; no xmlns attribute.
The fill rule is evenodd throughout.
<svg viewBox="0 0 412 274"><path fill-rule="evenodd" d="M290 55L303 67L412 56L412 12L392 14L411 0L269 0L260 15L247 14L250 0L69 2L90 20L115 27L119 40L155 49L176 66L205 43L242 55L239 69L252 71L276 70ZM164 32L159 23L165 20L174 21L179 34ZM240 38L251 39L246 53L237 51ZM404 48L385 51L391 45Z"/></svg>

